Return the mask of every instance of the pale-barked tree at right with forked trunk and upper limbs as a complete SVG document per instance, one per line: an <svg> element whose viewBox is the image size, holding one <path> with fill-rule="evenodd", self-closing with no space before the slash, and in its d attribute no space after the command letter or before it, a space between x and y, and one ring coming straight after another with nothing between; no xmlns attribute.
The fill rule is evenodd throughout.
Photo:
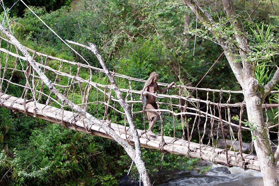
<svg viewBox="0 0 279 186"><path fill-rule="evenodd" d="M214 20L206 14L205 11L198 6L193 0L184 0L186 5L198 16L198 19L205 24L215 26ZM273 78L266 85L259 85L255 79L255 71L253 71L251 63L246 61L248 57L249 46L248 38L246 38L243 32L243 26L241 21L236 18L236 10L231 0L222 0L224 9L229 18L231 18L231 25L235 29L235 39L238 46L226 45L230 41L219 38L211 30L211 33L215 36L215 39L221 44L224 49L226 58L232 68L232 71L240 83L244 99L246 100L246 108L249 122L252 126L256 127L251 131L252 135L256 136L254 140L255 150L259 158L259 164L263 175L264 185L279 185L276 175L277 161L279 159L279 149L273 154L267 136L265 122L263 119L262 104L264 98L271 92L271 90L279 82L279 69L277 69ZM226 47L224 47L226 46ZM229 55L229 53L233 55ZM241 55L241 63L233 62L236 55ZM263 90L263 91L262 91Z"/></svg>

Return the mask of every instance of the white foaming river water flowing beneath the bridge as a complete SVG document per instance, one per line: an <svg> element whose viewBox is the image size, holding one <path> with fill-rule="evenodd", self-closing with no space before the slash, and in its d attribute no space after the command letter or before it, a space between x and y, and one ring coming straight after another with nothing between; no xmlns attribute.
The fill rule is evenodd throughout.
<svg viewBox="0 0 279 186"><path fill-rule="evenodd" d="M200 168L185 171L160 170L151 178L155 186L262 186L261 172L243 170L239 167L226 167L203 162L202 166L211 166L209 171L199 174ZM139 185L139 183L120 184L121 186ZM141 184L142 185L142 184Z"/></svg>

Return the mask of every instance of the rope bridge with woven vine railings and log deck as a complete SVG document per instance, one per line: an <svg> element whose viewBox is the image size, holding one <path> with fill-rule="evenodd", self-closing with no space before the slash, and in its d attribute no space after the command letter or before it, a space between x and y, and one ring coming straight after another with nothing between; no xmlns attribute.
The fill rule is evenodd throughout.
<svg viewBox="0 0 279 186"><path fill-rule="evenodd" d="M119 100L116 99L113 87L104 83L107 82L106 79L100 78L99 72L104 73L103 69L42 54L27 47L26 49L32 54L33 59L39 61L37 65L58 90L63 92L64 96L87 112L94 113L95 117L110 126L122 139L133 144L134 138L126 123L125 113L117 104ZM2 37L0 37L0 60L1 106L12 109L14 112L25 113L27 116L60 123L73 130L111 138L103 129L57 101L55 95L26 62L26 58L18 54L13 43ZM145 80L112 73L116 79L121 78L122 82L126 82L125 88L120 90L123 95L126 94L125 100L131 105L133 116L138 122L144 124L144 130L138 130L142 147L159 149L163 153L198 157L213 163L239 166L243 169L260 170L257 157L253 155L253 141L250 145L250 153L242 153L242 133L243 130L250 129L249 126L242 126L246 105L243 101L235 101L231 96L236 94L241 97L242 91L175 85L172 92L178 95L152 94L133 90L135 86L141 84L143 86ZM167 86L166 83L158 83L158 85ZM186 93L193 89L195 97L187 97ZM160 136L156 138L148 136L145 131L146 116L142 102L139 100L143 93L156 97L158 109L154 111L160 113L161 120ZM271 92L271 94L275 93L278 92ZM202 95L206 95L205 100L199 99ZM263 108L268 116L268 109L279 108L279 104L263 104ZM239 112L239 121L232 122L231 112L235 113L235 110ZM268 136L273 133L278 135L278 131L275 131L278 124L279 122L269 126L267 117ZM173 127L173 132L167 129L170 126ZM171 133L172 136L164 135L165 131ZM180 138L177 137L179 133ZM227 147L228 136L231 141L230 148ZM218 148L220 138L224 139L224 149ZM191 140L193 142L190 142ZM240 146L238 151L236 150L237 141ZM272 143L271 140L270 143Z"/></svg>

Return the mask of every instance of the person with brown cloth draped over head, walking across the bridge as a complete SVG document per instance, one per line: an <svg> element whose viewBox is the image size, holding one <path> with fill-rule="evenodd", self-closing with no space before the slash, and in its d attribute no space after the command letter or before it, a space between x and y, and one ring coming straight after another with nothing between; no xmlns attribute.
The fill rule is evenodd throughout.
<svg viewBox="0 0 279 186"><path fill-rule="evenodd" d="M150 93L157 93L159 91L160 93L163 93L164 91L168 90L171 86L175 84L175 82L172 82L170 83L169 86L161 90L161 88L157 84L158 78L159 78L159 74L157 72L150 73L149 78L144 84L143 91L147 91ZM156 121L158 120L160 114L157 111L148 111L152 109L158 109L157 104L155 102L155 96L151 94L143 94L143 104L144 104L144 109L147 109L146 115L149 121L149 127L147 133L155 137L156 135L152 132L152 128L155 125Z"/></svg>

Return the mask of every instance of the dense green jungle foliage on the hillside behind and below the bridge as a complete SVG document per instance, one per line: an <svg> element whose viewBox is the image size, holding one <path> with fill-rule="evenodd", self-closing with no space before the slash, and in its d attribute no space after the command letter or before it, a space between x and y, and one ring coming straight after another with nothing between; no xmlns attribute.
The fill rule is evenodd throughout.
<svg viewBox="0 0 279 186"><path fill-rule="evenodd" d="M16 1L4 2L7 11L14 2ZM61 38L83 44L95 43L108 68L127 76L147 79L152 71L157 71L160 75L159 82L175 81L181 85L195 86L222 53L222 48L210 41L210 36L203 30L198 30L195 38L196 32L193 29L196 27L196 17L180 0L29 0L26 3ZM259 53L266 47L271 48L270 50L278 47L272 44L274 38L278 38L279 25L278 16L275 16L275 11L273 13L270 2L261 3L254 13L253 21L249 19L245 23L247 34L255 38L255 50ZM243 7L240 15L248 19L246 12L253 11L257 1L236 1L236 6ZM212 16L219 15L212 12ZM226 16L222 16L223 21L227 21ZM20 1L8 11L7 17L13 34L23 45L35 51L82 63L82 60ZM0 18L7 26L4 11ZM272 25L270 22L273 22ZM222 23L220 25L222 26ZM200 28L201 23L197 22L197 27ZM267 43L270 45L267 46ZM91 51L76 46L74 48L92 66L100 68ZM1 58L5 58L3 53ZM275 58L270 55L258 60L256 70L260 83L268 82L274 73L268 68L270 65L278 65ZM52 65L58 66L59 63L52 62ZM76 72L77 67L72 70ZM47 76L51 80L55 79L51 73L47 73ZM81 70L80 76L88 79L88 71ZM23 83L24 77L18 77L15 81ZM60 81L66 83L68 79ZM108 82L101 73L94 73L91 81L103 84ZM117 83L121 87L129 82L117 79ZM141 90L143 84L133 83L131 86L132 89ZM224 56L199 87L240 90ZM47 94L48 90L44 88ZM169 90L170 93L172 91L177 90ZM10 85L7 94L9 93L20 97L22 90ZM188 92L183 94L187 95ZM228 99L228 95L224 97ZM46 98L44 99L46 101ZM78 91L73 92L72 99L78 104ZM92 95L92 99L97 99L97 95ZM241 100L242 95L231 99ZM273 95L270 101L278 102L278 96ZM87 111L101 118L104 109L92 104ZM95 112L96 110L98 112ZM278 109L273 112L278 114ZM273 118L277 119L272 113L268 114L270 122ZM123 117L115 115L113 111L110 117L118 123L124 123ZM188 120L190 122L192 118ZM6 108L0 110L0 122L0 185L118 185L119 179L126 175L130 168L130 157L113 140L69 130L60 124L42 119L25 117L22 113L12 113ZM144 128L142 119L135 118L135 122L138 128ZM173 117L165 116L164 122L165 134L173 136ZM181 129L180 124L175 125L176 136L182 135ZM159 133L159 127L155 128L155 132ZM244 137L251 138L249 132ZM197 162L197 159L175 154L165 154L161 161L163 154L160 151L142 151L143 160L151 175L161 168L192 169ZM138 179L135 166L132 166L130 176L132 180Z"/></svg>

